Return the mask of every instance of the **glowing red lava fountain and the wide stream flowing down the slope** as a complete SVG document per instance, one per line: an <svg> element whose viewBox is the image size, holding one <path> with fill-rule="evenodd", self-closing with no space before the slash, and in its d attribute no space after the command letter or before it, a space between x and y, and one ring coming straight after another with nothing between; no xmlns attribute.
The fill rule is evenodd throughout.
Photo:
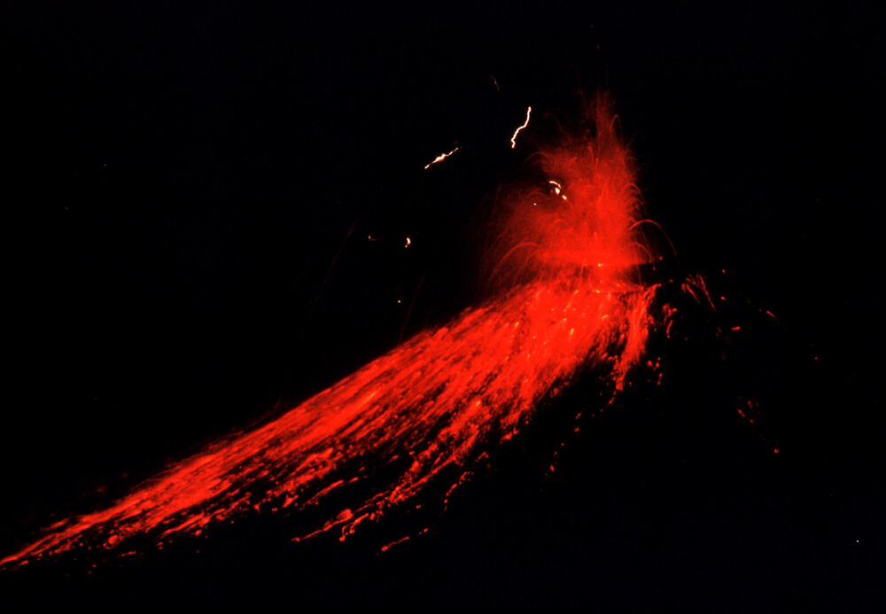
<svg viewBox="0 0 886 614"><path fill-rule="evenodd" d="M363 478L390 476L354 509L336 508L316 526L338 526L344 537L431 480L467 475L580 368L595 367L620 389L653 325L655 287L635 278L652 254L641 240L633 159L604 100L588 121L593 133L564 138L541 156L555 192L548 183L517 190L500 206L492 255L508 288L109 508L52 525L0 563L117 550L137 534L162 543L252 508L304 509Z"/></svg>

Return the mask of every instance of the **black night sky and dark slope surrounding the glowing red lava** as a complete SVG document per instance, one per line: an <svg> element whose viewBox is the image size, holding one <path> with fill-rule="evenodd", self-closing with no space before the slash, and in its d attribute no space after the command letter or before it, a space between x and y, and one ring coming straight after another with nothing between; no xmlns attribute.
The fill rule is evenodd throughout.
<svg viewBox="0 0 886 614"><path fill-rule="evenodd" d="M882 606L882 12L369 4L4 3L4 552L470 305L527 105L610 89L718 312L674 292L662 385L574 433L579 383L384 554L421 527L251 517L4 601Z"/></svg>

